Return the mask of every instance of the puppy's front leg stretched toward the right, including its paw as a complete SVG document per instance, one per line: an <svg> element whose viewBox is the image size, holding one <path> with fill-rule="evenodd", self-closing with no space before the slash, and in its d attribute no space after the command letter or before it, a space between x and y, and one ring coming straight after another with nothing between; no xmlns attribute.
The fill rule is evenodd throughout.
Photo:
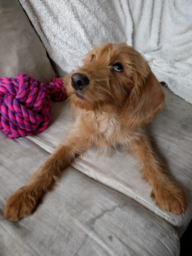
<svg viewBox="0 0 192 256"><path fill-rule="evenodd" d="M185 194L166 174L147 136L144 135L140 141L131 146L132 152L143 164L143 178L151 185L151 197L156 200L156 204L175 215L184 213L186 211Z"/></svg>

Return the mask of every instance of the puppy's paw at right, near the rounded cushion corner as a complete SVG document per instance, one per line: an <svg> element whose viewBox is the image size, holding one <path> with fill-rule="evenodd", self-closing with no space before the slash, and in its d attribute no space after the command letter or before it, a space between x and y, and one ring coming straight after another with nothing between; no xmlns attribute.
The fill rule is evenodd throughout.
<svg viewBox="0 0 192 256"><path fill-rule="evenodd" d="M177 186L174 186L170 190L166 188L152 190L151 198L156 201L156 205L158 205L158 207L168 210L172 214L179 215L186 211L185 193Z"/></svg>

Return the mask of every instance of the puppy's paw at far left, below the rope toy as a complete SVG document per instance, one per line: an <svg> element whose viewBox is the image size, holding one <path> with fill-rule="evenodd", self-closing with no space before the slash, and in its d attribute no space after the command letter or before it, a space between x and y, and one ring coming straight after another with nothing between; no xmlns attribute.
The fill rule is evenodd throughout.
<svg viewBox="0 0 192 256"><path fill-rule="evenodd" d="M25 186L17 190L6 201L4 217L11 221L18 221L32 214L36 209L37 198L32 190Z"/></svg>

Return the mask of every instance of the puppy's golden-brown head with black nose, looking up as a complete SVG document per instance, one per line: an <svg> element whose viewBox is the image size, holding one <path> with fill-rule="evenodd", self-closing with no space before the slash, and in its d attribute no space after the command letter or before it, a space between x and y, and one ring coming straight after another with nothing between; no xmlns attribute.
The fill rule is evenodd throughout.
<svg viewBox="0 0 192 256"><path fill-rule="evenodd" d="M127 126L147 124L164 105L164 92L143 56L126 43L92 49L65 80L70 100L88 111L118 111Z"/></svg>

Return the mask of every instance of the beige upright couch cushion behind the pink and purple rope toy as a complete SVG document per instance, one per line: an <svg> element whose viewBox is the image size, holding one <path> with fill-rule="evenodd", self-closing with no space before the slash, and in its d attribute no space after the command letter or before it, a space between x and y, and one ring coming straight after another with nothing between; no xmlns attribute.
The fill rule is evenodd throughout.
<svg viewBox="0 0 192 256"><path fill-rule="evenodd" d="M26 73L45 83L55 76L47 53L17 0L0 0L0 77Z"/></svg>

